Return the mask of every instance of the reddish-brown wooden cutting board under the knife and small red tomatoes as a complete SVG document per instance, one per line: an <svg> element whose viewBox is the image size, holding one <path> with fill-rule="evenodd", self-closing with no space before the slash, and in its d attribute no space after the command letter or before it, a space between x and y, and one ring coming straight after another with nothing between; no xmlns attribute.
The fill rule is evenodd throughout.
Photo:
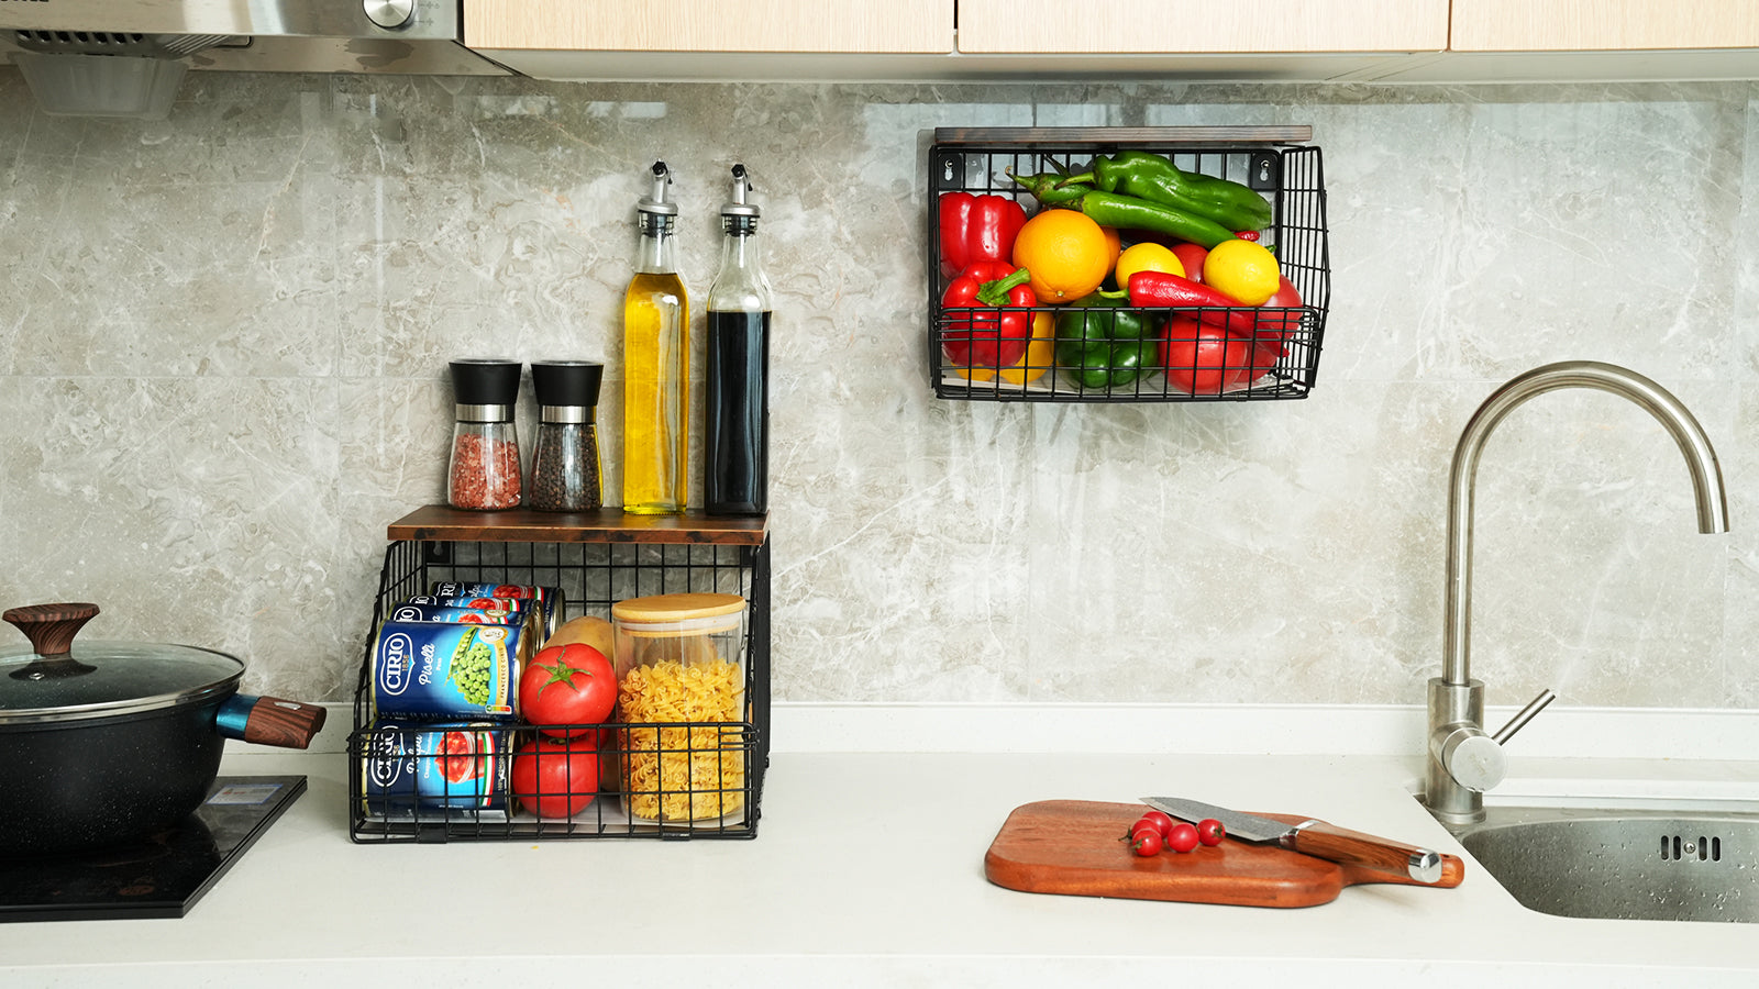
<svg viewBox="0 0 1759 989"><path fill-rule="evenodd" d="M1314 906L1332 903L1354 883L1420 885L1390 873L1233 839L1143 859L1120 838L1145 810L1092 801L1040 801L1015 808L983 855L983 875L1022 892L1238 906ZM1307 820L1263 817L1288 824ZM1442 855L1442 880L1435 885L1455 887L1462 878L1460 859Z"/></svg>

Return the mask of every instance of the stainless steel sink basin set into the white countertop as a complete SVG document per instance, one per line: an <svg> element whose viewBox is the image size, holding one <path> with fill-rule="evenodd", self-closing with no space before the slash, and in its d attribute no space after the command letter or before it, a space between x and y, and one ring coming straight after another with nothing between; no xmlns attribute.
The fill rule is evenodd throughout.
<svg viewBox="0 0 1759 989"><path fill-rule="evenodd" d="M1759 813L1485 808L1467 852L1558 917L1759 924Z"/></svg>

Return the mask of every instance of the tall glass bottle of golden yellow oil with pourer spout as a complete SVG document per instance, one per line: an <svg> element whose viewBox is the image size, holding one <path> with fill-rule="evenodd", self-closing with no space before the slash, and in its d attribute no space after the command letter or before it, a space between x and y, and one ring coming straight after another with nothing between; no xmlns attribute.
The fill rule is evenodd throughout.
<svg viewBox="0 0 1759 989"><path fill-rule="evenodd" d="M674 260L665 162L654 162L653 183L635 204L640 241L623 294L623 510L649 516L684 510L690 451L690 297Z"/></svg>

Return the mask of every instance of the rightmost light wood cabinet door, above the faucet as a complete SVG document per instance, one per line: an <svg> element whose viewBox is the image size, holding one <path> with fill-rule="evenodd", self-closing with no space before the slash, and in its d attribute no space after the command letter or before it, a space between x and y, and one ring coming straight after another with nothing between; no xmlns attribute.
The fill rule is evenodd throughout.
<svg viewBox="0 0 1759 989"><path fill-rule="evenodd" d="M1455 51L1759 46L1759 0L1453 0Z"/></svg>

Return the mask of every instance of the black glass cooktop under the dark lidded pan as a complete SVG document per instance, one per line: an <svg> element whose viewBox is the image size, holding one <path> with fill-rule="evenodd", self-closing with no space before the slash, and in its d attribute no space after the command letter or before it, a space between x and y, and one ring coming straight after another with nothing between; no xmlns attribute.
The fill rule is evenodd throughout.
<svg viewBox="0 0 1759 989"><path fill-rule="evenodd" d="M0 859L0 922L183 917L303 792L304 776L220 776L183 824L142 841Z"/></svg>

